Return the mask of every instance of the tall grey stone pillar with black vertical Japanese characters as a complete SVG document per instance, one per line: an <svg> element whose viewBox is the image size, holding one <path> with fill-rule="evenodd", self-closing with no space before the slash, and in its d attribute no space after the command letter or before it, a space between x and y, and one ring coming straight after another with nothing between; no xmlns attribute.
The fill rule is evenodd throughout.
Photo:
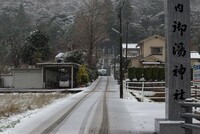
<svg viewBox="0 0 200 134"><path fill-rule="evenodd" d="M190 1L165 0L166 119L181 120L179 102L191 96Z"/></svg>

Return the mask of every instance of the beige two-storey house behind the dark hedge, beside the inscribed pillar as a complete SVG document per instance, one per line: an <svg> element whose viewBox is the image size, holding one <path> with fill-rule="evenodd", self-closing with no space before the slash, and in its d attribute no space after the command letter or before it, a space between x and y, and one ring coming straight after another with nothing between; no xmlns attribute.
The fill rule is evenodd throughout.
<svg viewBox="0 0 200 134"><path fill-rule="evenodd" d="M130 67L164 67L166 63L165 38L160 35L153 35L149 38L139 41L137 44L138 56L131 58ZM191 51L191 65L200 62L200 54L197 51Z"/></svg>

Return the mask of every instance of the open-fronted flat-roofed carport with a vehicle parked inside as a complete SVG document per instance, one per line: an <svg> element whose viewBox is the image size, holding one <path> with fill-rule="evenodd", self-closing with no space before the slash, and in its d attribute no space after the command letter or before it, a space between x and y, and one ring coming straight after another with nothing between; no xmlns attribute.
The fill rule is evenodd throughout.
<svg viewBox="0 0 200 134"><path fill-rule="evenodd" d="M69 87L76 86L77 63L37 63L42 68L43 88L60 88L59 83L68 81Z"/></svg>

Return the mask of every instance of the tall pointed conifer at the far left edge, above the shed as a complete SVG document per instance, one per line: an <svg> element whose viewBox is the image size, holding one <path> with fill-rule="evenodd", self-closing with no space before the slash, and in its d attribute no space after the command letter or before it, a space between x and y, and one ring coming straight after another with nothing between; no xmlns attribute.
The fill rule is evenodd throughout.
<svg viewBox="0 0 200 134"><path fill-rule="evenodd" d="M28 17L21 4L16 15L4 12L0 18L0 45L4 48L0 51L0 55L4 57L2 62L6 65L19 67L25 36L30 27Z"/></svg>

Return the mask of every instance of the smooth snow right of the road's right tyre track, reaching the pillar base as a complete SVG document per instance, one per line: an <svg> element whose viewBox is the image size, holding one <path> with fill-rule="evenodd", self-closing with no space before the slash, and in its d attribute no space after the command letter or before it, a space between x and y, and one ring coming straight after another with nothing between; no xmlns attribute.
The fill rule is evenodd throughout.
<svg viewBox="0 0 200 134"><path fill-rule="evenodd" d="M119 89L119 85L115 84L112 88ZM119 91L111 93L108 105L112 134L153 134L155 119L165 118L163 102L137 102L137 99L128 92L124 92L125 99L118 97Z"/></svg>

